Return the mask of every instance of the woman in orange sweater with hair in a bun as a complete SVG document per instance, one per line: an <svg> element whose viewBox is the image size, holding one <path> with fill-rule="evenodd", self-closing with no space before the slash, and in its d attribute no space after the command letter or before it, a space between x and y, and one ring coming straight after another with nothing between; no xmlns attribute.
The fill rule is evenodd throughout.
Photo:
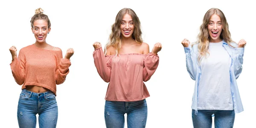
<svg viewBox="0 0 256 128"><path fill-rule="evenodd" d="M46 43L51 23L41 8L35 10L31 18L31 29L35 44L20 49L12 46L10 64L17 84L22 85L18 103L17 119L20 128L35 128L36 114L39 115L40 128L55 128L58 119L58 106L55 99L56 84L62 84L69 73L72 48L65 57L58 47Z"/></svg>

